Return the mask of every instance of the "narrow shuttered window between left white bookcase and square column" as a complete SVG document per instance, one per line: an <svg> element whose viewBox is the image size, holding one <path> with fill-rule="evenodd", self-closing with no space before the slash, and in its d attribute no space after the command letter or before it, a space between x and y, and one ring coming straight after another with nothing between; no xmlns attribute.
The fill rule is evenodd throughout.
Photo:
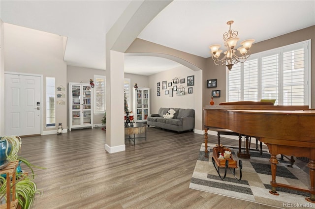
<svg viewBox="0 0 315 209"><path fill-rule="evenodd" d="M94 113L104 114L106 77L94 75Z"/></svg>

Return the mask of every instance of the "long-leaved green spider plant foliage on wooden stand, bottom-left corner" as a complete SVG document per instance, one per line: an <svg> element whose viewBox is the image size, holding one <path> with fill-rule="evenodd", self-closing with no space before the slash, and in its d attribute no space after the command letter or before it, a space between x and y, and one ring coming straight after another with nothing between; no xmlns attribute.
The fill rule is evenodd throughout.
<svg viewBox="0 0 315 209"><path fill-rule="evenodd" d="M41 168L35 165L32 165L24 157L18 156L18 153L21 149L21 138L19 136L3 136L0 139L1 142L6 144L5 155L6 160L14 161L19 160L19 165L16 169L16 183L15 183L15 196L18 199L19 206L21 209L30 209L32 203L34 202L35 194L41 193L36 186L36 183L32 181L34 179L34 172L32 167ZM24 174L20 164L21 162L25 163L32 171L32 175ZM0 176L0 202L2 204L3 197L6 199L6 175Z"/></svg>

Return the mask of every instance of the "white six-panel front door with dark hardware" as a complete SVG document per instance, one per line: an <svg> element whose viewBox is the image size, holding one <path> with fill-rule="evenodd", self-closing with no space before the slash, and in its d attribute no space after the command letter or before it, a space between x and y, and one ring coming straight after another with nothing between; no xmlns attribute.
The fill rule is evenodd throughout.
<svg viewBox="0 0 315 209"><path fill-rule="evenodd" d="M34 135L41 130L41 77L5 74L5 135Z"/></svg>

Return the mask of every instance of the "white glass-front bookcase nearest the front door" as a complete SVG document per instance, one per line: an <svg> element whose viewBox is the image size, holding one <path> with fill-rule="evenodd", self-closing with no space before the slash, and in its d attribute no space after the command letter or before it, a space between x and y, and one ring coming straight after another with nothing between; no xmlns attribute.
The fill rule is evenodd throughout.
<svg viewBox="0 0 315 209"><path fill-rule="evenodd" d="M92 92L89 83L69 83L69 131L93 128Z"/></svg>

